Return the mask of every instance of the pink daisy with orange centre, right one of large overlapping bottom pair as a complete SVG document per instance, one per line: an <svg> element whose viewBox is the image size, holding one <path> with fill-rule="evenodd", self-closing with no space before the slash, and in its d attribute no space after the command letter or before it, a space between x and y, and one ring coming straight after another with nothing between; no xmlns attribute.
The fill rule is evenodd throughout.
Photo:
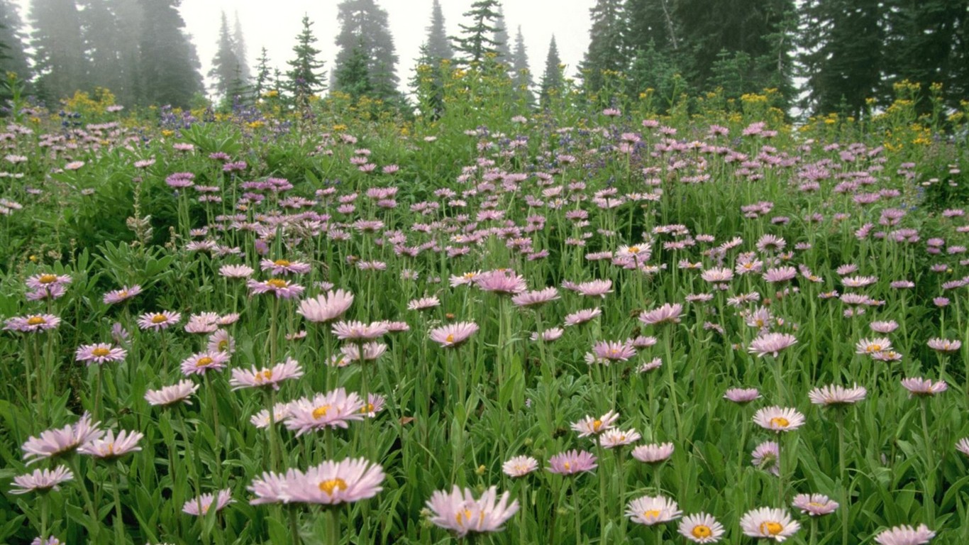
<svg viewBox="0 0 969 545"><path fill-rule="evenodd" d="M362 458L331 460L310 467L296 480L289 480L287 492L291 501L337 505L377 496L384 490L384 468Z"/></svg>

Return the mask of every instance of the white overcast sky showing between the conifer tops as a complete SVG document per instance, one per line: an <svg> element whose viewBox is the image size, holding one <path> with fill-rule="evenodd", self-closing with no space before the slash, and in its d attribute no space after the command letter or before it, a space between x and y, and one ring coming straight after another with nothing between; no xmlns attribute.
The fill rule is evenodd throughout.
<svg viewBox="0 0 969 545"><path fill-rule="evenodd" d="M473 0L440 0L448 33L459 33L458 23L468 24L461 16ZM558 45L566 74L575 75L589 42L589 8L595 0L504 0L505 21L511 39L521 25L525 48L534 80L545 69L548 42L552 34ZM249 65L256 63L260 49L268 51L270 66L285 72L286 61L293 58L293 46L301 30L303 14L313 21L317 48L323 50L326 70L333 67L338 23L336 6L339 0L182 0L181 14L188 32L199 51L203 75L208 73L218 41L220 14L225 10L230 25L238 13L245 33ZM424 42L430 22L432 0L377 0L387 10L391 23L393 44L400 58L397 76L403 85L413 74L414 59Z"/></svg>

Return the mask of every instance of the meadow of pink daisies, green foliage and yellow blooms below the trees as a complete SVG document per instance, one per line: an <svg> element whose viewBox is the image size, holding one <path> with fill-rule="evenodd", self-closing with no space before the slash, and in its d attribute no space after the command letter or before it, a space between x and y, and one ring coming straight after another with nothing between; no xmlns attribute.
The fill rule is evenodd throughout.
<svg viewBox="0 0 969 545"><path fill-rule="evenodd" d="M452 77L15 94L0 542L969 543L966 112Z"/></svg>

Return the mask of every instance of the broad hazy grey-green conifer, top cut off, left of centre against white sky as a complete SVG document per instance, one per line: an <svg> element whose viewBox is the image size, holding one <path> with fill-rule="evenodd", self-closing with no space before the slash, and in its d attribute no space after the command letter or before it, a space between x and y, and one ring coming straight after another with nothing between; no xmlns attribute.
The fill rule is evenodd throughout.
<svg viewBox="0 0 969 545"><path fill-rule="evenodd" d="M367 62L369 90L366 94L384 100L397 98L397 84L400 82L396 75L397 54L387 12L377 6L374 0L343 0L337 10L340 32L336 36L336 47L339 48L336 66L345 65L358 54L355 49L360 48ZM346 90L342 86L340 73L341 70L337 68L334 87ZM359 91L356 80L353 85Z"/></svg>

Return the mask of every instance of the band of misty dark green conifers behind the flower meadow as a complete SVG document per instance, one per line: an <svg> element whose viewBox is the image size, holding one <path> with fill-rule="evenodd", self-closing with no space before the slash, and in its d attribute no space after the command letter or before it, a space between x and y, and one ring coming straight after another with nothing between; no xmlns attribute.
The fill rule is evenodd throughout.
<svg viewBox="0 0 969 545"><path fill-rule="evenodd" d="M270 90L297 101L333 90L410 108L388 15L376 0L339 3L333 67L320 60L327 46L308 17L286 70L270 68L265 48L250 65L237 18L223 14L208 89L179 4L32 0L24 19L12 0L0 0L0 68L28 81L47 104L102 87L126 106L187 107L210 96L231 104ZM902 80L923 89L941 84L936 89L951 107L969 96L969 0L597 0L589 15L591 39L573 76L599 103L645 89L739 98L772 88L788 111L860 116L891 102L892 85ZM528 73L521 28L513 38L498 0L474 2L459 28L448 35L435 0L419 65L493 59L539 104L570 77L554 37L541 78Z"/></svg>

